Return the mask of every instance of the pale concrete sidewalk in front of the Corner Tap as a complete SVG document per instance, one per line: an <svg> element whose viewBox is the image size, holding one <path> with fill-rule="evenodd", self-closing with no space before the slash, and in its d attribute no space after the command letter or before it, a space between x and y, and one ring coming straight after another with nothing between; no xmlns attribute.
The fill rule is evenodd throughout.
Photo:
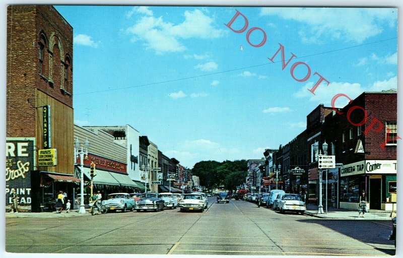
<svg viewBox="0 0 403 258"><path fill-rule="evenodd" d="M325 207L323 207L323 212L325 212ZM308 204L306 206L306 215L321 219L336 219L336 220L391 220L390 212L379 211L379 210L369 210L369 213L365 213L365 218L358 218L358 211L349 211L335 209L333 207L327 208L327 214L318 214L318 207L313 204Z"/></svg>

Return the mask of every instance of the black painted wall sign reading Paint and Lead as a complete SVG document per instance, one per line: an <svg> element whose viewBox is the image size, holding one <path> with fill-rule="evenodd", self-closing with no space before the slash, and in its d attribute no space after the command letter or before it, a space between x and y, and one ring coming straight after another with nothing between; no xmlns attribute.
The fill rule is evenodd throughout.
<svg viewBox="0 0 403 258"><path fill-rule="evenodd" d="M35 163L35 138L6 139L6 205L12 203L11 189L19 206L31 205L31 174Z"/></svg>

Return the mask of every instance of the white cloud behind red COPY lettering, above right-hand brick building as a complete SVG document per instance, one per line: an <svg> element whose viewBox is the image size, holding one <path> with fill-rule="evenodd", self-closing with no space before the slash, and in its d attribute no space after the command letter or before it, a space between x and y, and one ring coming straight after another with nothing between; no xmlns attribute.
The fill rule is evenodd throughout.
<svg viewBox="0 0 403 258"><path fill-rule="evenodd" d="M313 95L308 89L312 89L313 83L307 83L296 93L293 94L295 98L308 98L309 101L316 103L322 103L325 106L330 106L331 99L339 93L346 94L351 99L355 99L364 91L377 92L382 90L397 89L397 77L390 78L389 80L376 81L373 84L362 87L359 83L343 83L343 82L331 82L327 87L325 84L319 85ZM341 97L335 103L336 107L344 107L349 100L345 97Z"/></svg>

